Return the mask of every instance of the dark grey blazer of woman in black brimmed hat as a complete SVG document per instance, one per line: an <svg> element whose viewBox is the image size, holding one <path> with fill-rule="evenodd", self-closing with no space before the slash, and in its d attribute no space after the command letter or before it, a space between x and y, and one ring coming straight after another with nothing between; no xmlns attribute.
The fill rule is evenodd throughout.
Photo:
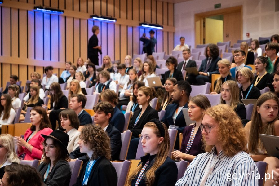
<svg viewBox="0 0 279 186"><path fill-rule="evenodd" d="M44 181L44 174L47 171L48 164L42 162L37 170L42 176L42 181ZM52 167L51 172L49 172L48 178L44 181L44 186L69 186L71 179L71 167L69 162L65 160L58 160L56 164Z"/></svg>

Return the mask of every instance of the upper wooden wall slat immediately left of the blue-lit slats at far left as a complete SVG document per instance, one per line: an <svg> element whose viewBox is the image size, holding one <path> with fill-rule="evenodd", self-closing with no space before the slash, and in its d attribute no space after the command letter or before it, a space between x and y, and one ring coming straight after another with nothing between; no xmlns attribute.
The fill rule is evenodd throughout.
<svg viewBox="0 0 279 186"><path fill-rule="evenodd" d="M27 11L19 10L20 57L27 58Z"/></svg>

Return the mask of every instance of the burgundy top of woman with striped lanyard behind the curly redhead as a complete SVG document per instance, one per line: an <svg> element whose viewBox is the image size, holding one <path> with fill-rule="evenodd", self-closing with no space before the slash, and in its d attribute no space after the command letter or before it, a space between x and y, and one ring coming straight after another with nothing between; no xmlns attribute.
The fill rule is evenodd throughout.
<svg viewBox="0 0 279 186"><path fill-rule="evenodd" d="M183 153L186 152L186 147L187 147L193 127L195 127L195 125L186 126L184 128L180 152L183 152ZM199 128L188 154L197 156L200 153L204 153L204 151L201 149L202 148L201 139L202 139L202 134L201 134L201 129Z"/></svg>

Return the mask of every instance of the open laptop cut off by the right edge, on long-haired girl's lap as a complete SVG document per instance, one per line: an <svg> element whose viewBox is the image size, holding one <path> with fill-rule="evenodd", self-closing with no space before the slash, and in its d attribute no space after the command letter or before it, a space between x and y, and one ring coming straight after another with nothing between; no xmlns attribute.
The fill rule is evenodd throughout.
<svg viewBox="0 0 279 186"><path fill-rule="evenodd" d="M268 156L279 158L279 136L259 134Z"/></svg>

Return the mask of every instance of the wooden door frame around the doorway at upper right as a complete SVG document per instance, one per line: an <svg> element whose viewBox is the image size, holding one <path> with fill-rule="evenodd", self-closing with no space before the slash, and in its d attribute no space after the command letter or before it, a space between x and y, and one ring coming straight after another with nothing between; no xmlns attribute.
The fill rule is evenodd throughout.
<svg viewBox="0 0 279 186"><path fill-rule="evenodd" d="M197 44L203 44L203 38L205 36L205 29L203 26L204 19L206 17L214 16L214 15L223 15L233 12L239 12L240 11L240 39L242 39L242 32L243 32L243 20L242 20L242 5L236 6L236 7L229 7L229 8L223 8L208 12L202 12L195 14L195 46Z"/></svg>

